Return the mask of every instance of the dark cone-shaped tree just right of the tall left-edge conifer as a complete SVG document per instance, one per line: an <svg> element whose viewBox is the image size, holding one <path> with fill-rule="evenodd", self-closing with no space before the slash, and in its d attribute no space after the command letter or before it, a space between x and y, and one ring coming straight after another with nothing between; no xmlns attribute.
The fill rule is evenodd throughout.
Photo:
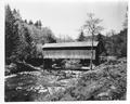
<svg viewBox="0 0 130 104"><path fill-rule="evenodd" d="M12 60L25 61L28 56L31 56L32 51L32 38L30 37L30 32L27 27L21 24L21 28L17 30L18 39L16 42L16 48L13 51Z"/></svg>

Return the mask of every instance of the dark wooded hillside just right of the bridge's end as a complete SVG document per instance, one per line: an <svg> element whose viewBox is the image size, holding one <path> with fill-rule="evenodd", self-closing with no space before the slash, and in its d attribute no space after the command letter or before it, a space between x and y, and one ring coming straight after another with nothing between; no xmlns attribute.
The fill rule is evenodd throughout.
<svg viewBox="0 0 130 104"><path fill-rule="evenodd" d="M119 34L114 34L106 37L105 49L108 55L118 57L127 56L127 29L121 30Z"/></svg>

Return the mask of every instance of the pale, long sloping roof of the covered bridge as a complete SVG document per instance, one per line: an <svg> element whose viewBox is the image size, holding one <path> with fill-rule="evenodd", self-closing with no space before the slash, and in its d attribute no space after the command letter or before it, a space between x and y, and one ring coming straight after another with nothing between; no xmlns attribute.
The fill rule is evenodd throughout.
<svg viewBox="0 0 130 104"><path fill-rule="evenodd" d="M98 41L93 41L93 47L98 47ZM92 41L83 42L61 42L61 43L46 43L42 48L75 48L75 47L92 47Z"/></svg>

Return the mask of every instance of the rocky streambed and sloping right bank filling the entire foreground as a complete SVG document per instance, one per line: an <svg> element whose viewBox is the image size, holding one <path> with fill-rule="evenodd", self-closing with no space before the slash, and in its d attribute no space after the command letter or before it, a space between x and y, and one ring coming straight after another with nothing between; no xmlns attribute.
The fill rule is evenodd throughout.
<svg viewBox="0 0 130 104"><path fill-rule="evenodd" d="M126 100L127 58L93 70L34 70L5 76L5 102Z"/></svg>

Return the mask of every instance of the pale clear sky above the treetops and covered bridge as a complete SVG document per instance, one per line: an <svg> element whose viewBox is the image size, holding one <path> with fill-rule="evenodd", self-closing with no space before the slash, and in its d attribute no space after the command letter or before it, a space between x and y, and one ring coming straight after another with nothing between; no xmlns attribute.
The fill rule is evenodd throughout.
<svg viewBox="0 0 130 104"><path fill-rule="evenodd" d="M102 34L114 29L119 32L122 29L125 21L127 2L116 1L94 1L81 0L68 2L54 1L28 1L18 2L18 0L6 1L11 9L20 10L23 20L36 22L41 20L43 27L50 27L55 36L69 36L76 39L79 36L79 29L87 21L87 13L94 13L94 17L103 20L101 26L104 27ZM86 35L87 36L87 35Z"/></svg>

